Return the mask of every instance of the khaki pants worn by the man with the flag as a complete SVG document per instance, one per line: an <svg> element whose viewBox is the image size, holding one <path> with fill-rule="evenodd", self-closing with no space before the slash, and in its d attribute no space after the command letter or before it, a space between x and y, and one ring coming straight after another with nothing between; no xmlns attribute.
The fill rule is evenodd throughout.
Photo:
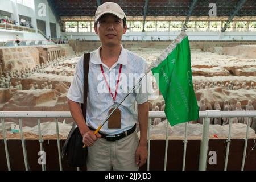
<svg viewBox="0 0 256 182"><path fill-rule="evenodd" d="M88 171L138 171L135 161L138 144L136 131L115 142L99 138L93 146L88 147Z"/></svg>

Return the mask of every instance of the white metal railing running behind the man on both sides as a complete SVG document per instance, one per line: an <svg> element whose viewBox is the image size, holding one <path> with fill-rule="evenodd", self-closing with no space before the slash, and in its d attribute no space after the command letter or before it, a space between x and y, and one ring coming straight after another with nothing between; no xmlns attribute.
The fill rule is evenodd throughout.
<svg viewBox="0 0 256 182"><path fill-rule="evenodd" d="M164 111L150 111L149 118L148 118L148 160L147 160L147 170L150 169L150 125L152 118L165 118ZM200 157L199 157L199 170L205 171L207 168L207 152L208 152L208 143L209 143L209 125L210 125L210 118L233 118L233 117L256 117L256 111L219 111L219 110L207 110L207 111L199 111L199 117L204 118L203 121L203 137L201 139L200 144ZM23 158L25 169L28 170L28 163L27 163L27 150L24 143L23 138L23 130L22 130L22 118L38 118L38 135L39 135L39 143L40 143L40 150L43 151L43 140L42 134L40 129L40 118L55 118L56 122L56 135L57 135L57 148L58 148L58 155L59 155L59 165L60 170L62 171L62 163L61 163L61 149L60 149L60 138L59 138L59 124L57 122L58 118L72 118L69 111L52 111L52 112L38 112L38 111L2 111L0 112L0 118L2 122L2 133L3 133L3 140L5 145L5 153L6 153L6 161L8 170L11 170L10 167L10 160L9 160L9 152L7 148L7 138L6 138L6 131L5 131L5 118L18 118L19 119L19 126L20 126L20 138L22 140L22 150L23 150ZM228 131L228 139L227 147L226 147L226 158L225 158L225 167L224 170L226 171L228 165L228 156L229 156L229 145L230 145L230 132L232 126L232 119L229 122L229 131ZM167 150L168 150L168 125L167 122L166 126L166 148L164 154L164 170L166 170L167 166ZM242 158L242 166L241 170L243 171L245 167L245 158L246 158L246 149L247 149L247 140L249 134L249 125L250 122L247 122L246 127L246 137L245 137L245 146L243 148L243 158ZM186 151L187 151L187 123L185 124L185 134L184 134L184 151L183 151L183 167L182 170L185 169L185 158L186 158ZM46 170L44 164L42 164L42 170ZM79 168L77 168L79 170Z"/></svg>

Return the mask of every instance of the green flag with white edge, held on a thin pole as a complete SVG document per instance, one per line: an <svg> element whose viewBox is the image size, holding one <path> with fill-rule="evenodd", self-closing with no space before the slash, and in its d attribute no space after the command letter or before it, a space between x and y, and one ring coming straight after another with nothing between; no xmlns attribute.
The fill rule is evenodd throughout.
<svg viewBox="0 0 256 182"><path fill-rule="evenodd" d="M188 36L182 31L166 48L151 69L163 95L164 113L171 126L197 120L199 107L193 90Z"/></svg>

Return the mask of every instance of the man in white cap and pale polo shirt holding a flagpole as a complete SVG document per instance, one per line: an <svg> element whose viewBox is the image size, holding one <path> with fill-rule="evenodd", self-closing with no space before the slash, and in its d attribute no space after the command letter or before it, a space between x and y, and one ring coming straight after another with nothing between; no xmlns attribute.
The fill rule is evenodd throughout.
<svg viewBox="0 0 256 182"><path fill-rule="evenodd" d="M77 63L67 94L72 117L88 147L87 169L138 170L147 159L147 92L129 94L114 112L114 119L109 119L99 134L94 135L94 130L126 96L127 92L118 87L119 80L126 81L130 73L139 76L146 72L147 64L121 45L122 35L127 30L126 15L117 3L98 6L94 30L101 46L90 53L86 123L80 109L84 88L83 56ZM137 121L140 139L135 132Z"/></svg>

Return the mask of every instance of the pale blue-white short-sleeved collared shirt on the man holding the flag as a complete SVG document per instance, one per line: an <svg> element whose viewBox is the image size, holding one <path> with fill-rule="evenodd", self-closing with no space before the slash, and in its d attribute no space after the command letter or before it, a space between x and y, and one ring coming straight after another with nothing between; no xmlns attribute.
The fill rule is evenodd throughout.
<svg viewBox="0 0 256 182"><path fill-rule="evenodd" d="M106 66L101 61L100 49L101 47L90 53L88 75L89 81L86 123L88 126L93 127L94 129L97 129L98 126L102 124L104 119L108 117L109 110L121 102L121 100L126 96L130 89L133 88L133 85L138 82L139 76L141 76L141 74L145 73L147 70L147 63L142 57L131 51L128 51L122 46L118 61L112 65L111 68L108 68L108 66ZM69 100L79 103L83 103L84 101L83 60L84 56L80 58L76 65L73 81L67 94ZM113 98L109 93L108 86L106 86L106 82L101 72L100 64L102 64L106 80L108 81L113 96L115 93L115 85L118 79L120 64L122 64L121 78L118 85L118 92L115 101L113 101ZM134 80L132 79L134 75L130 73L137 73L137 78L135 78L137 82L134 81L133 85L131 84L130 80ZM148 77L147 79L143 80L148 80ZM142 85L143 84L141 84L141 89ZM152 88L151 82L149 87ZM137 104L143 104L144 102L147 102L147 100L148 90L143 93L132 92L118 107L122 113L121 129L108 129L108 122L106 122L100 131L105 134L113 135L131 129L131 127L133 127L138 121Z"/></svg>

